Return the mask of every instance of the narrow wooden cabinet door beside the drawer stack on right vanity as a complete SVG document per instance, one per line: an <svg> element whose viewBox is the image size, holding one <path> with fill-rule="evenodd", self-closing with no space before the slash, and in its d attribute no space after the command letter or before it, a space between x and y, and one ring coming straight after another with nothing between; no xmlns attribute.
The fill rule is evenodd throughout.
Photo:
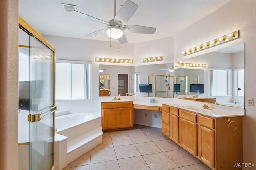
<svg viewBox="0 0 256 170"><path fill-rule="evenodd" d="M179 117L171 114L170 121L170 138L179 143Z"/></svg>

